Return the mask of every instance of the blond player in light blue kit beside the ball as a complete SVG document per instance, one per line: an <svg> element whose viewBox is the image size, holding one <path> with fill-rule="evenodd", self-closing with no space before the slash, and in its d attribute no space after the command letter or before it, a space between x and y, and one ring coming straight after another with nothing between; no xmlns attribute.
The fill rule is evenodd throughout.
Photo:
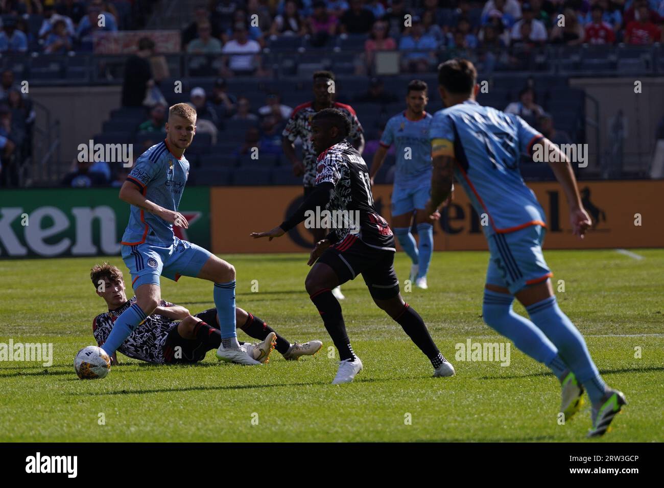
<svg viewBox="0 0 664 488"><path fill-rule="evenodd" d="M141 154L120 189L120 199L131 204L121 250L131 272L136 303L120 314L102 349L112 356L154 312L161 301L161 276L175 281L180 276L193 276L214 283L221 331L217 357L242 365L260 365L240 348L236 336L235 268L173 234L173 224L189 226L177 208L189 177L189 161L184 153L195 133L196 110L187 104L172 106L166 139Z"/></svg>

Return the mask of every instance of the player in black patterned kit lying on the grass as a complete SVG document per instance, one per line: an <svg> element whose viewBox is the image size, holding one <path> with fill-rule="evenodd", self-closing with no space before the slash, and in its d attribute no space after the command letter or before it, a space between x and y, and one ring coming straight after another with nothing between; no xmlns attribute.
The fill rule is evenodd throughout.
<svg viewBox="0 0 664 488"><path fill-rule="evenodd" d="M97 315L92 321L92 333L102 347L116 319L136 302L136 297L127 300L122 271L111 264L94 266L90 270L90 279L97 289L97 295L108 305L108 313ZM103 291L100 291L102 283ZM297 360L301 356L314 355L323 345L321 341L303 344L296 341L291 344L264 321L241 308L236 308L236 320L241 324L238 327L246 335L262 341L254 344L240 343L240 347L249 357L260 363L268 362L274 347L284 359ZM220 342L216 309L190 315L185 307L161 300L155 311L125 339L118 351L127 357L148 363L196 363L205 358L207 351L218 348ZM117 364L115 353L112 361Z"/></svg>

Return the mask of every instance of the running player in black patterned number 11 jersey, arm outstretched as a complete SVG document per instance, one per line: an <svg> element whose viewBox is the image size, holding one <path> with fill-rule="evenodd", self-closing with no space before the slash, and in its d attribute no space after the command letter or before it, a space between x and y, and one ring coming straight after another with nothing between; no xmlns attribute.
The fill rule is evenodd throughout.
<svg viewBox="0 0 664 488"><path fill-rule="evenodd" d="M311 120L313 147L318 156L316 187L280 226L268 232L253 232L254 238L283 236L305 218L307 210L326 208L342 212L359 212L359 228L333 228L311 251L305 287L318 309L325 329L339 350L339 370L333 384L353 381L362 369L362 361L353 352L341 315L341 305L332 289L359 274L369 287L374 302L396 321L410 339L429 358L434 376L452 376L454 367L438 351L429 331L399 293L394 273L394 235L382 216L376 212L369 185L367 163L345 137L350 130L348 118L339 110L321 110ZM357 224L357 222L356 222ZM316 262L316 260L318 260ZM315 262L315 264L314 264Z"/></svg>

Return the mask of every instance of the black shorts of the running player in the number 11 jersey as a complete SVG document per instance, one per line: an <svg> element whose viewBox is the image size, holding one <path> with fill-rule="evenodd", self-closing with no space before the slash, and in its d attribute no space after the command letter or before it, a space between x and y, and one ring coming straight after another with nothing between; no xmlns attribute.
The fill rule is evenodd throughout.
<svg viewBox="0 0 664 488"><path fill-rule="evenodd" d="M368 246L357 236L347 236L330 246L318 258L332 268L339 284L355 280L361 274L376 300L388 300L399 293L399 280L394 272L394 251Z"/></svg>

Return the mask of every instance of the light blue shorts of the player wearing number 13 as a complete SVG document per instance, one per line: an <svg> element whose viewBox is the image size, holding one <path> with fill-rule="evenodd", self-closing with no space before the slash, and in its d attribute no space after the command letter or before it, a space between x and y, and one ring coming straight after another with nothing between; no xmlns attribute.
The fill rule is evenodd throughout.
<svg viewBox="0 0 664 488"><path fill-rule="evenodd" d="M544 227L531 225L490 236L487 283L507 288L514 294L553 276L542 254L544 234Z"/></svg>

